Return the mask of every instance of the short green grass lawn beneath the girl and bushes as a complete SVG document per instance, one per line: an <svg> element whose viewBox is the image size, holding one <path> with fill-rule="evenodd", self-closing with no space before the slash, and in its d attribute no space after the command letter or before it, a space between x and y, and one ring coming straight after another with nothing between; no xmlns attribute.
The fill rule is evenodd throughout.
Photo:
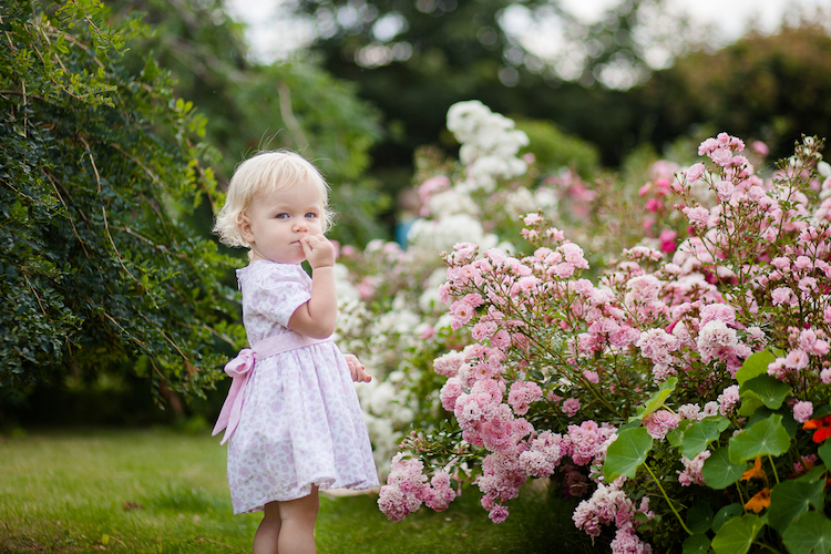
<svg viewBox="0 0 831 554"><path fill-rule="evenodd" d="M321 495L318 552L588 551L573 506L526 494L495 525L473 493L399 523L377 496ZM219 437L167 430L48 431L0 438L0 553L250 552L257 514L232 515ZM606 548L604 548L606 550ZM597 552L597 551L593 551Z"/></svg>

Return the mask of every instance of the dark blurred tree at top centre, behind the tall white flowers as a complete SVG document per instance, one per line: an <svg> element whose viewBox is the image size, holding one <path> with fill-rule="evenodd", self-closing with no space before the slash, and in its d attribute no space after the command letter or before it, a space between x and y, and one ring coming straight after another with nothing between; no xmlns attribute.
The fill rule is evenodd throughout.
<svg viewBox="0 0 831 554"><path fill-rule="evenodd" d="M663 10L658 0L626 0L587 25L544 0L298 0L296 9L316 23L310 49L324 66L358 83L384 114L375 170L400 181L412 174L418 146L439 136L449 151L456 146L444 115L471 99L514 119L554 122L601 146L605 164L619 163L638 138L623 89L648 75L650 49L676 55L691 42L684 18L656 23ZM529 32L556 34L567 48L546 58L511 27L517 14L538 24Z"/></svg>

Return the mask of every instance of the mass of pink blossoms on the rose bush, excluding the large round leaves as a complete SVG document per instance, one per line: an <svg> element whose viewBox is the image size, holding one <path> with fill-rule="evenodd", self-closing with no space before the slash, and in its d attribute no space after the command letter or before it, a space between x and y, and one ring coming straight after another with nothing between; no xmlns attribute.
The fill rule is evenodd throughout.
<svg viewBox="0 0 831 554"><path fill-rule="evenodd" d="M699 155L709 160L678 172L677 184L671 175L652 175L640 191L646 211L657 222L677 194L686 217L676 223L689 228L668 224L676 230L665 228L655 240L656 226L654 247L625 250L597 284L581 276L588 269L583 249L542 213L523 217L522 235L536 248L531 255L480 253L470 243L445 255L440 299L452 329L466 328L474 342L437 358L433 368L447 378L441 403L458 421L464 448L484 454L475 484L494 522L507 517L505 503L529 478L560 471L564 490L581 494L588 474L596 490L574 512L575 525L598 536L614 524L613 552L652 552L634 524L635 514L649 513L648 497L636 509L623 479L609 484L598 474L616 429L586 417L632 416L670 376L677 381L667 404L642 419L663 453L676 451L665 439L683 420L721 416L733 428L742 424L735 417L737 371L769 346L783 350L768 373L792 386L794 419L813 416L808 399L817 401L817 384L831 384L831 178L828 189L817 183L808 194L789 185L801 167L765 182L743 150L742 141L721 133L700 144ZM710 201L699 205L707 187ZM828 201L814 209L818 195ZM702 408L669 409L696 397ZM681 456L677 484L706 485L709 458L708 450ZM389 485L396 486L382 493L396 516L427 502L424 486L444 490L442 480L428 485L420 466L398 460L396 471Z"/></svg>

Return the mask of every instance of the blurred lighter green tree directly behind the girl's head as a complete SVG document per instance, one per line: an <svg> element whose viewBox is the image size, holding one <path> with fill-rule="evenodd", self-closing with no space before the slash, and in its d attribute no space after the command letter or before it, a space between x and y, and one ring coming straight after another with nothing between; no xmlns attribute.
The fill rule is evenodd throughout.
<svg viewBox="0 0 831 554"><path fill-rule="evenodd" d="M222 156L220 187L242 160L260 148L301 152L320 166L332 185L339 213L332 238L363 245L383 234L376 222L388 201L379 183L363 172L369 148L380 137L379 114L355 94L355 85L332 78L308 59L259 64L249 61L243 29L222 0L116 0L116 19L138 12L152 33L136 37L134 52L153 52L174 78L174 90L207 116L205 140ZM140 70L140 55L125 58ZM209 233L209 206L198 212L197 228Z"/></svg>

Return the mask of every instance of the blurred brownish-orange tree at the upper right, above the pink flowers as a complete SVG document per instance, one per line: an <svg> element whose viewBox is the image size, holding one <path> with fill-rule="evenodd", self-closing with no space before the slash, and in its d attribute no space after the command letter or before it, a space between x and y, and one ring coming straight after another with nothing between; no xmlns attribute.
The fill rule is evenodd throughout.
<svg viewBox="0 0 831 554"><path fill-rule="evenodd" d="M831 136L831 37L818 23L748 35L656 72L633 95L657 147L710 125L769 142L783 157L801 133Z"/></svg>

